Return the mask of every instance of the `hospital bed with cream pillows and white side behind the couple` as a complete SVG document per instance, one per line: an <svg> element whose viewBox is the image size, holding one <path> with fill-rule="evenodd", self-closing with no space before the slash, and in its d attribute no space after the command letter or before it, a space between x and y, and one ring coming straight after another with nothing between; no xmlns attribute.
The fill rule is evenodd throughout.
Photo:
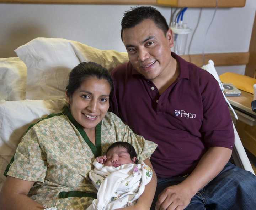
<svg viewBox="0 0 256 210"><path fill-rule="evenodd" d="M4 170L29 125L61 111L68 74L74 66L92 61L112 70L128 62L124 52L55 38L36 38L15 52L18 57L0 58L0 188ZM204 68L215 70L213 63ZM234 162L254 173L235 127L234 131Z"/></svg>

